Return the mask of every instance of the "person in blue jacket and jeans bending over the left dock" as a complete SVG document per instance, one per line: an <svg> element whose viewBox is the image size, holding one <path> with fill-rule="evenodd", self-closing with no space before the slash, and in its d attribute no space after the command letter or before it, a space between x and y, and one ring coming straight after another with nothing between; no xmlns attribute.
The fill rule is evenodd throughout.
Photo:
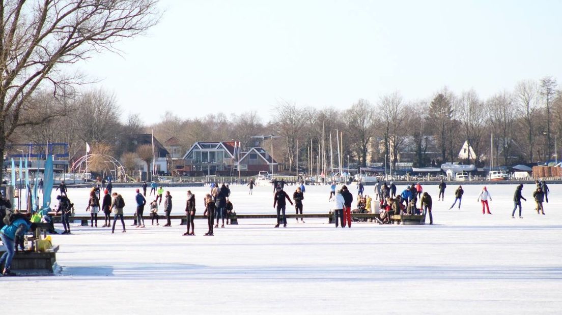
<svg viewBox="0 0 562 315"><path fill-rule="evenodd" d="M6 247L6 252L0 257L0 266L3 265L3 276L15 276L10 267L12 266L12 258L15 252L16 237L22 237L29 230L35 231L37 225L30 223L24 216L15 214L12 215L12 222L4 222L6 225L0 230L0 239Z"/></svg>

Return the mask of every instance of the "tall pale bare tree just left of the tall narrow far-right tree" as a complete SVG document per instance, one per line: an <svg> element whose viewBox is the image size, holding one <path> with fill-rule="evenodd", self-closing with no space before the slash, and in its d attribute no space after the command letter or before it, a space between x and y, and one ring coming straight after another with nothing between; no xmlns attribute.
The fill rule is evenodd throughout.
<svg viewBox="0 0 562 315"><path fill-rule="evenodd" d="M515 87L516 111L522 117L521 125L527 135L527 143L521 146L528 161L534 160L535 118L538 109L538 87L534 81L522 81Z"/></svg>

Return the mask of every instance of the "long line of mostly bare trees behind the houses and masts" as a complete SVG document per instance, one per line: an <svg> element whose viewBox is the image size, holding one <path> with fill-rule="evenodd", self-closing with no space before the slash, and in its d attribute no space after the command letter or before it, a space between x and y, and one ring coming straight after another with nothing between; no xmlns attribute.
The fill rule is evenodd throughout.
<svg viewBox="0 0 562 315"><path fill-rule="evenodd" d="M555 141L562 135L562 95L552 77L519 82L512 90L499 91L488 99L474 90L455 94L444 88L422 100L404 100L400 92L393 92L343 108L317 109L282 101L272 109L269 121L255 112L214 112L192 118L166 112L160 122L147 126L138 114L123 119L115 96L103 90L65 101L40 94L33 101L37 106L30 115L40 117L52 111L65 115L23 127L12 141L68 142L74 156L83 155L84 142L88 142L128 160L132 155L124 154L137 151L130 137L151 129L161 142L176 137L186 150L196 141L235 140L250 148L256 141L252 136L279 136L265 140L262 146L270 150L270 141L274 141L274 158L292 170L297 150L299 165L308 165L310 158L316 164L323 155L319 147L329 161L329 138L331 135L335 154L336 132L342 136L343 156L351 164L366 166L386 159L390 164L413 161L420 167L432 160L487 163L492 133L496 165L554 159ZM469 151L465 160L459 160L465 141L473 153Z"/></svg>

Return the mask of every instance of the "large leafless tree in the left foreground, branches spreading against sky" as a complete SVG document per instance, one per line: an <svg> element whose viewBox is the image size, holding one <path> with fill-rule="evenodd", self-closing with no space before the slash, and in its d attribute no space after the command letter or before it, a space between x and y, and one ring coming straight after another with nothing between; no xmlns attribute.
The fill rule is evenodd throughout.
<svg viewBox="0 0 562 315"><path fill-rule="evenodd" d="M82 82L64 71L71 64L100 50L115 50L117 41L143 33L157 20L156 0L2 1L0 163L17 128L60 115L24 119L38 89L51 85L56 95L66 96Z"/></svg>

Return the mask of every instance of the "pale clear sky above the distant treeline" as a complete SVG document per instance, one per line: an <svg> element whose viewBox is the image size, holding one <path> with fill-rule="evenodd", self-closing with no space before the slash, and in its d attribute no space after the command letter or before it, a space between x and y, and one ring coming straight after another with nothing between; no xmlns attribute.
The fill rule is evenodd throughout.
<svg viewBox="0 0 562 315"><path fill-rule="evenodd" d="M447 86L482 98L524 79L562 82L562 1L164 0L146 36L80 63L124 113L155 123L280 100L347 108Z"/></svg>

